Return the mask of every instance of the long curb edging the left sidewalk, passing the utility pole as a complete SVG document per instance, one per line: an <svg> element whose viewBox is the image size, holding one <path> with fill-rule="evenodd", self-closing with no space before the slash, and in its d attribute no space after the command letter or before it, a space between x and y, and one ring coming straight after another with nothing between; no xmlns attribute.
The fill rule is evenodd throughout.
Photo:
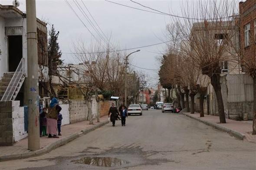
<svg viewBox="0 0 256 170"><path fill-rule="evenodd" d="M85 135L85 134L97 129L98 127L102 127L102 126L104 126L105 124L108 124L108 123L109 123L108 120L107 121L102 121L99 124L92 125L92 127L85 128L85 129L82 129L79 132L75 132L73 134L70 134L69 136L64 137L64 138L62 138L62 139L60 139L60 140L58 140L58 141L56 141L52 144L49 144L46 147L41 148L39 150L26 152L26 153L21 153L21 154L8 154L8 155L0 156L0 161L24 159L24 158L40 156L40 155L49 153L53 149L56 149L57 147L60 147L64 144L67 144L67 143L73 141L74 139L76 139L78 137L81 137L82 135Z"/></svg>

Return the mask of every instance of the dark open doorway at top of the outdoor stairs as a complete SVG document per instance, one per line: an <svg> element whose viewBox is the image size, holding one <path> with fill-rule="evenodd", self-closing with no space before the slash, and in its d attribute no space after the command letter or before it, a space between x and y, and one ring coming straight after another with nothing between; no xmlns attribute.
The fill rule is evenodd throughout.
<svg viewBox="0 0 256 170"><path fill-rule="evenodd" d="M8 36L8 70L15 72L22 59L22 36Z"/></svg>

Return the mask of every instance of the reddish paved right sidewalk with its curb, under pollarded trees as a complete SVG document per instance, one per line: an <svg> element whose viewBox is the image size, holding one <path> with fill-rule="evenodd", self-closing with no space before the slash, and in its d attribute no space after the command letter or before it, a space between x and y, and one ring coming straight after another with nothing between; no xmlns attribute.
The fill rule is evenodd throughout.
<svg viewBox="0 0 256 170"><path fill-rule="evenodd" d="M188 112L182 112L190 118L194 118L198 121L203 122L209 126L212 126L220 131L227 132L234 137L241 140L246 139L249 142L256 143L256 135L252 135L253 124L251 121L234 121L231 119L226 119L226 124L220 124L219 116L212 116L204 114L204 117L200 118L199 113L190 114Z"/></svg>

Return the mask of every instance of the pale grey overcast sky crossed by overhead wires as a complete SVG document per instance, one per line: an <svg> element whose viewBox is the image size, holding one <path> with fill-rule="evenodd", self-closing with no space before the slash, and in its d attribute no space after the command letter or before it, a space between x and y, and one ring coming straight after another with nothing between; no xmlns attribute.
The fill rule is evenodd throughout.
<svg viewBox="0 0 256 170"><path fill-rule="evenodd" d="M18 8L26 12L26 1L18 1L20 2L20 7ZM148 10L129 0L113 1ZM12 2L13 0L0 0L2 5L11 5ZM78 2L87 12L81 0L78 0ZM170 22L169 16L135 10L105 0L83 0L83 2L105 35L111 36L111 42L115 45L118 44L121 49L147 46L168 40L164 35L166 33L165 26ZM167 13L171 11L174 14L179 14L181 6L180 0L144 0L138 2ZM97 36L95 30L90 26L85 17L82 16L73 0L69 0L69 3L89 30ZM89 14L87 13L87 15ZM71 54L65 54L65 52L73 52L73 42L79 39L89 44L91 39L94 39L64 0L36 0L36 16L49 23L48 28L51 24L54 24L56 30L59 31L59 45L63 52L62 58L65 59L66 63L74 62ZM159 69L159 63L156 58L161 56L160 53L164 52L165 48L165 44L141 48L141 52L130 56L131 64L142 68ZM128 50L127 53L135 50ZM150 76L151 86L157 84L157 71L135 69L145 71Z"/></svg>

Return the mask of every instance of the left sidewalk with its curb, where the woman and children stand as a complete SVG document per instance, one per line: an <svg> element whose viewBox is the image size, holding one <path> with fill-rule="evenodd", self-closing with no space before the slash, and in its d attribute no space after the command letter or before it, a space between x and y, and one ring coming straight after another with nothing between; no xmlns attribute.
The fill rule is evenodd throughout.
<svg viewBox="0 0 256 170"><path fill-rule="evenodd" d="M59 136L59 138L40 137L40 150L36 151L30 151L27 149L28 138L26 137L13 146L1 146L0 161L23 159L45 154L105 124L108 124L108 116L100 118L99 123L94 120L93 125L90 125L89 121L81 121L74 124L64 125L61 127L62 136Z"/></svg>

